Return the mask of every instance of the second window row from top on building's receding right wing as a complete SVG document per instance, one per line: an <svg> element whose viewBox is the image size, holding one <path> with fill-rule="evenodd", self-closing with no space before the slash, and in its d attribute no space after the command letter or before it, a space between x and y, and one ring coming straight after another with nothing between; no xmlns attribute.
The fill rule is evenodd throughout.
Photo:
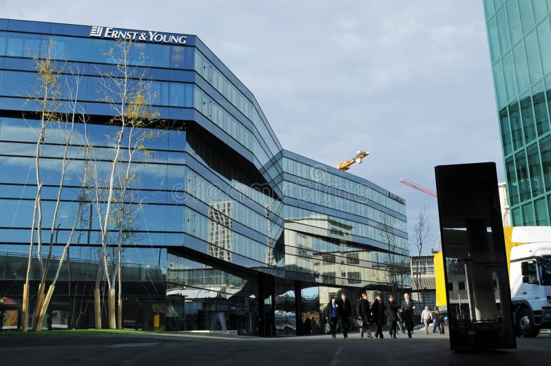
<svg viewBox="0 0 551 366"><path fill-rule="evenodd" d="M368 219L380 222L381 224L386 223L388 226L404 233L407 232L406 222L386 213L382 213L381 211L378 211L366 204L334 195L333 193L335 193L335 189L328 189L328 191L329 192L322 192L317 189L311 189L309 187L300 186L291 182L283 183L283 194L285 196L292 197L303 202L311 202L313 204L319 204L321 206L326 206L346 213L367 217Z"/></svg>

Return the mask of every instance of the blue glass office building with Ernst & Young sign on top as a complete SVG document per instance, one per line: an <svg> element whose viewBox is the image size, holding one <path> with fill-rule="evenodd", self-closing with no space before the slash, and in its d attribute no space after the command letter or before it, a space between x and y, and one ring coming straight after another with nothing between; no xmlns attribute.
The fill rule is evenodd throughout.
<svg viewBox="0 0 551 366"><path fill-rule="evenodd" d="M114 57L121 45L124 63ZM50 58L55 98L39 142L37 63ZM114 89L125 70L141 76L128 85L146 86L155 123L121 132ZM126 167L133 179L121 178ZM31 238L31 294L50 244L49 281L70 242L44 325L52 329L94 327L94 285L105 294L107 280L98 268L114 274L119 244L128 328L316 334L330 296L410 288L404 200L282 149L253 94L193 35L0 19L0 172L4 330L21 327ZM106 202L114 213L103 240Z"/></svg>

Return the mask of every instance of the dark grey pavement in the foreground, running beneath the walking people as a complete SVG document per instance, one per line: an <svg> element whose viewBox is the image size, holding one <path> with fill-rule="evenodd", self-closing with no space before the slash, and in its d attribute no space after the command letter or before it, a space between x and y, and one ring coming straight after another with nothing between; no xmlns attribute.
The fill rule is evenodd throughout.
<svg viewBox="0 0 551 366"><path fill-rule="evenodd" d="M546 365L551 337L517 349L452 352L447 334L413 338L253 338L209 334L0 334L4 365Z"/></svg>

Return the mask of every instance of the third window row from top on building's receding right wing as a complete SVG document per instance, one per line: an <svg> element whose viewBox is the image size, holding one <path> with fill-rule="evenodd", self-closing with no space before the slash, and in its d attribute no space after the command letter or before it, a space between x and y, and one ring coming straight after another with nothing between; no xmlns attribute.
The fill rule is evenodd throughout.
<svg viewBox="0 0 551 366"><path fill-rule="evenodd" d="M283 215L288 221L292 221L293 219L308 219L309 217L314 218L320 218L320 217L326 217L327 220L331 220L333 222L337 222L339 224L342 224L342 226L349 226L350 227L350 234L351 235L357 235L358 237L364 237L366 239L373 239L375 241L380 241L381 243L388 246L388 237L384 230L380 230L378 228L374 228L373 226L369 226L366 224L360 224L357 222L353 222L346 219L341 219L339 217L335 216L328 216L328 215L320 215L320 213L316 213L314 211L309 211L304 208L298 208L295 206L284 206L284 215ZM307 224L307 223L306 223ZM391 235L391 245L394 245L397 248L402 248L404 250L409 249L408 239L405 239L403 237L399 237L397 235Z"/></svg>

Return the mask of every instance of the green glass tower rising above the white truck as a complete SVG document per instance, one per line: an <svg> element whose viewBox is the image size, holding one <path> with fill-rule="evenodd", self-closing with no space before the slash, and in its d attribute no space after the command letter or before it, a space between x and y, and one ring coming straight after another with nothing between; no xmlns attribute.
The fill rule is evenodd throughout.
<svg viewBox="0 0 551 366"><path fill-rule="evenodd" d="M551 1L484 0L513 226L549 225Z"/></svg>

